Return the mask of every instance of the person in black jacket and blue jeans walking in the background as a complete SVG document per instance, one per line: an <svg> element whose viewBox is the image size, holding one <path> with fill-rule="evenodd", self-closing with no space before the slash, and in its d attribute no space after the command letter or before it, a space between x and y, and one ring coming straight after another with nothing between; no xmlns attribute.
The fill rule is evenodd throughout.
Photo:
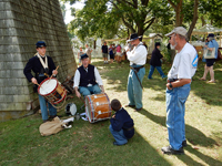
<svg viewBox="0 0 222 166"><path fill-rule="evenodd" d="M160 42L157 42L155 49L153 50L152 56L151 56L151 60L150 60L150 72L149 72L148 79L152 79L152 74L153 74L155 68L157 68L158 72L160 73L162 79L167 77L167 75L164 75L162 68L161 68L162 58L163 58L163 55L160 53Z"/></svg>

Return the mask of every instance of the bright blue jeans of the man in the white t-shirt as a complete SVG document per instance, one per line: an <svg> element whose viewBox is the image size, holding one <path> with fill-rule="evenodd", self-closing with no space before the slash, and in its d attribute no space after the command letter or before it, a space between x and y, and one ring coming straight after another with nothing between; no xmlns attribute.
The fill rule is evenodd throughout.
<svg viewBox="0 0 222 166"><path fill-rule="evenodd" d="M167 127L169 142L173 149L178 151L185 141L185 101L190 94L191 86L185 84L165 92L167 97Z"/></svg>

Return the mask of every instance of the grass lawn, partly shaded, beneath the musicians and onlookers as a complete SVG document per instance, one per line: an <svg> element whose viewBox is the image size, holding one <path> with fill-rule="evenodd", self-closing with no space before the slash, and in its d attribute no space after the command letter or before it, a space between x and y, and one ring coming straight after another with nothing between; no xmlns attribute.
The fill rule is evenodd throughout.
<svg viewBox="0 0 222 166"><path fill-rule="evenodd" d="M100 59L92 61L102 76L105 93L110 100L119 98L128 104L127 80L129 63L103 64ZM149 64L143 80L143 110L127 108L135 124L135 135L124 146L113 146L109 121L94 124L74 121L73 127L56 135L42 137L39 126L40 114L0 123L0 165L83 165L83 166L182 166L222 165L222 64L214 65L216 83L199 81L203 74L199 63L186 101L185 131L189 146L185 155L169 156L161 147L169 145L165 127L165 80L153 73L148 80ZM163 64L167 74L170 64ZM210 79L210 76L209 76ZM78 112L83 104L74 97ZM64 111L59 112L65 115Z"/></svg>

